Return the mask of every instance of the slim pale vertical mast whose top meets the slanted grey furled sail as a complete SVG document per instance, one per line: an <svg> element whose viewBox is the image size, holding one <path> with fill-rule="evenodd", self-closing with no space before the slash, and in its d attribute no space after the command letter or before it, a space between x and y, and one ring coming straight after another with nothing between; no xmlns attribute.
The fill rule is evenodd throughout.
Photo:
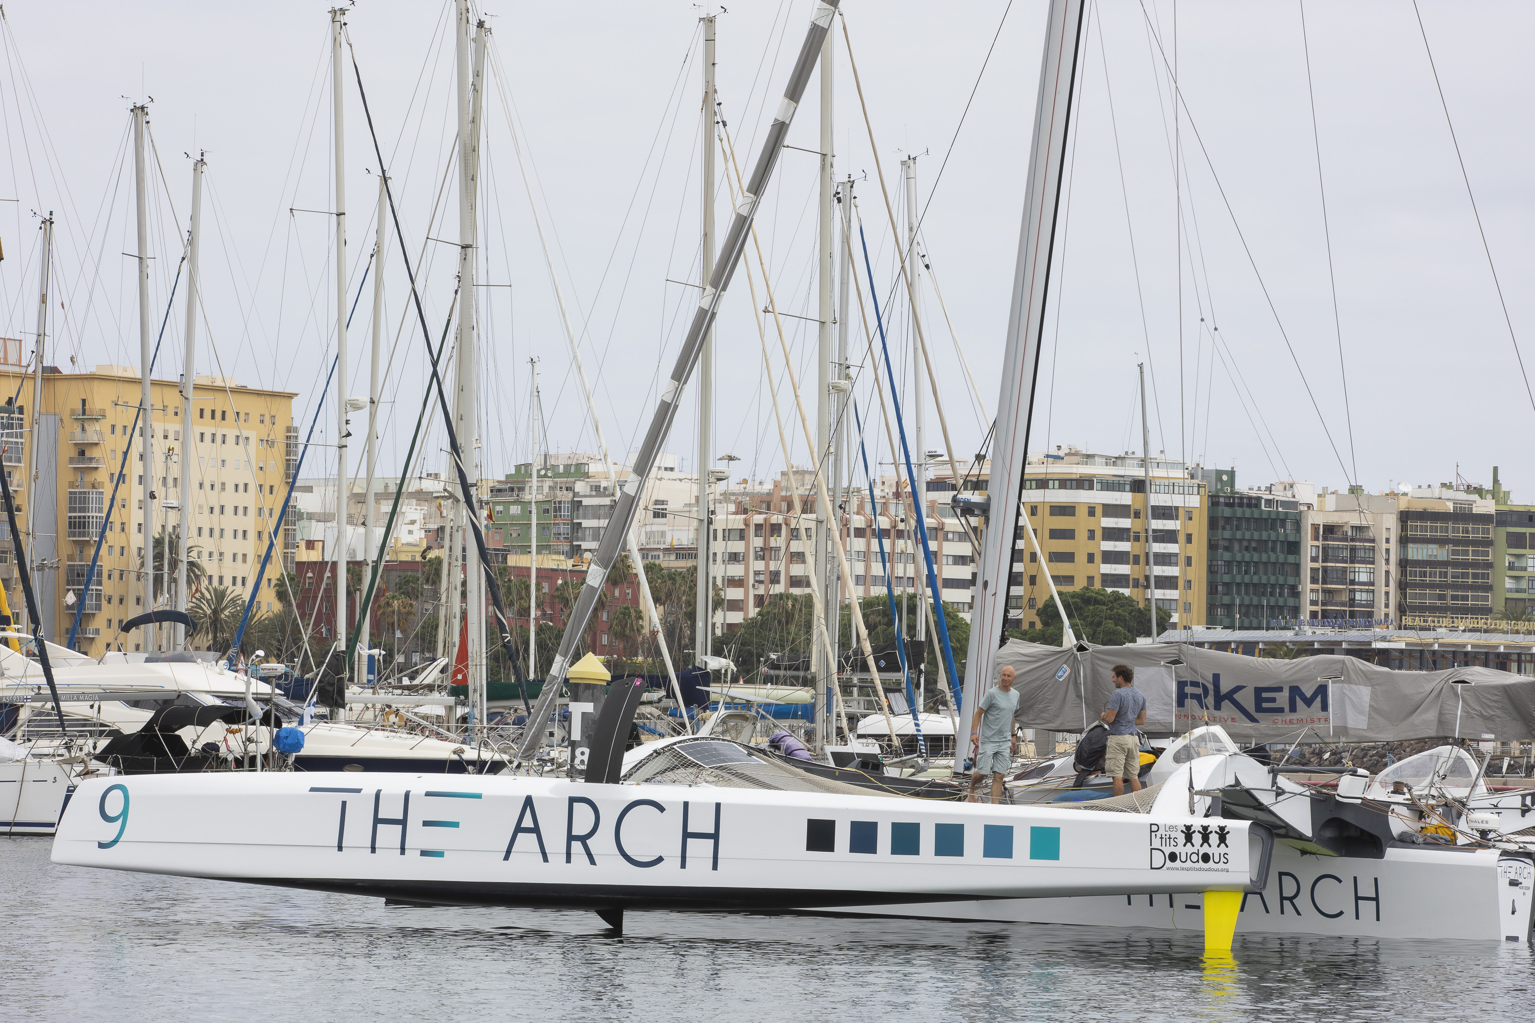
<svg viewBox="0 0 1535 1023"><path fill-rule="evenodd" d="M832 181L832 34L826 34L826 41L821 43L821 167L820 167L820 212L817 218L817 244L815 244L815 262L817 262L817 307L815 307L815 451L812 457L817 462L826 462L835 456L835 446L832 445L832 247L835 242L835 232L832 219L835 215L835 192L837 184ZM792 468L792 466L791 466ZM829 466L823 466L829 468ZM823 479L835 488L841 474L835 469L830 472L823 471ZM815 552L815 572L820 578L815 584L821 587L821 606L826 609L827 617L827 640L830 640L829 649L823 650L820 646L814 647L814 675L815 675L815 721L817 735L821 738L821 747L824 748L829 741L829 701L826 698L826 687L837 684L837 640L841 632L841 592L838 583L841 581L841 574L835 566L835 552L832 548L832 538L827 531L841 529L841 521L837 515L837 495L832 492L821 491L817 488L815 492L817 512L821 520L821 535L815 538L810 549ZM827 658L830 661L827 663ZM878 684L878 679L876 679Z"/></svg>

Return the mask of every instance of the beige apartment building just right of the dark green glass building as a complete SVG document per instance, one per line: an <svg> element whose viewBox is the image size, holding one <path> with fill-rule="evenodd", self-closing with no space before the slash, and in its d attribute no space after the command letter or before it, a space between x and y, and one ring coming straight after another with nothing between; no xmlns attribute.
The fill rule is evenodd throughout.
<svg viewBox="0 0 1535 1023"><path fill-rule="evenodd" d="M1322 488L1305 511L1309 555L1306 620L1335 629L1392 624L1392 538L1400 540L1395 494L1337 492Z"/></svg>

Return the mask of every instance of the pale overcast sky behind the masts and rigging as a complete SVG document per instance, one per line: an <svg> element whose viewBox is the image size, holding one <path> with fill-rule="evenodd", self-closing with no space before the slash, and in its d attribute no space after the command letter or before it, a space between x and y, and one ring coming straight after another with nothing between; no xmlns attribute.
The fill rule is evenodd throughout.
<svg viewBox="0 0 1535 1023"><path fill-rule="evenodd" d="M746 166L803 40L810 2L726 6L720 98ZM1183 0L1176 31L1171 2L1091 5L1036 451L1045 443L1139 451L1136 363L1147 360L1154 373L1153 451L1234 465L1245 485L1302 479L1342 488L1357 479L1380 489L1451 480L1457 463L1466 479L1490 482L1490 466L1500 465L1515 498L1535 500L1527 442L1535 410L1514 342L1535 363L1535 72L1527 58L1535 9L1478 3L1467 18L1464 5L1424 0L1420 8L1490 267L1411 3L1311 3L1305 37L1296 3ZM1015 0L1005 21L1004 9L995 2L844 5L878 149L870 147L840 23L835 35L837 175L858 179L907 402L910 314L893 290L876 170L884 169L904 224L900 161L919 155L926 252L947 308L946 322L924 284L923 322L962 456L978 449L987 422L953 336L979 403L995 410L1044 31L1042 0ZM454 132L445 37L451 11L447 3L365 0L347 15L411 259L425 253L421 296L434 336L456 273L454 248L427 241L457 238L453 175L442 189ZM511 146L513 121L536 175L608 442L622 459L643 433L697 298L668 281L698 279L700 8L596 2L497 5L487 14L493 43L480 281L494 287L479 288L484 471L499 475L528 457L527 360L534 356L542 359L550 446L594 449ZM181 255L186 153L206 150L200 371L221 368L246 383L298 391L295 410L307 425L335 342L327 5L21 0L5 5L5 18L0 198L18 201L0 204L0 331L26 339L31 350L35 212L52 210L55 298L64 308L55 304L49 362L66 370L71 359L78 367L140 363L134 262L121 255L137 250L127 107L152 97L152 321L158 328ZM1164 63L1173 60L1174 41L1187 103L1177 124ZM818 146L817 95L812 78L792 146ZM355 293L373 250L378 160L350 66L345 107ZM1182 189L1174 187L1174 163ZM794 316L815 314L815 169L814 155L786 150L758 218L777 304ZM723 176L718 189L723 233ZM398 471L427 363L390 244L385 354L396 334L399 347L385 385L384 448ZM860 281L867 302L867 276ZM760 308L760 275L757 287ZM178 294L157 365L166 377L181 365L181 302ZM872 408L876 416L864 328L857 313L852 319L855 393L866 414ZM353 394L367 390L370 321L371 281L350 331ZM783 322L814 416L814 324ZM1222 337L1216 357L1210 328ZM737 474L752 479L783 463L769 379L778 385L795 460L807 457L771 322L768 331L771 374L748 279L737 273L720 317L714 448L737 454ZM694 382L668 443L686 466L694 462L695 394ZM321 416L318 436L335 443L332 420L328 411ZM930 402L927 420L926 446L942 449ZM442 468L444 443L434 429L425 468ZM889 460L875 423L869 443L870 459ZM305 475L324 466L316 456Z"/></svg>

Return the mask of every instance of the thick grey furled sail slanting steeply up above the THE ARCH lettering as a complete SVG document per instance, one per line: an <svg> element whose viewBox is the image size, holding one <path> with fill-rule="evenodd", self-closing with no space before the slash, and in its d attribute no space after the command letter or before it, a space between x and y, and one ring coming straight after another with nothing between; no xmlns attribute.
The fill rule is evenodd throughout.
<svg viewBox="0 0 1535 1023"><path fill-rule="evenodd" d="M586 623L591 620L591 613L597 606L597 595L602 592L602 587L608 580L608 572L612 569L612 563L623 549L623 538L634 525L634 512L639 505L640 491L645 488L645 480L649 477L651 469L655 465L655 456L660 452L660 446L665 443L666 434L671 431L672 419L677 416L677 399L698 362L698 351L703 345L703 337L714 327L714 317L720 307L720 296L729 285L731 276L735 273L735 267L740 264L741 253L746 248L748 232L757 212L757 202L761 198L763 189L772 179L774 167L778 164L778 158L783 150L784 137L789 133L789 124L794 121L794 112L798 107L800 100L804 97L804 86L810 80L810 72L815 71L815 61L821 54L821 43L826 38L826 32L830 29L832 17L837 14L838 3L840 0L821 0L817 3L815 12L810 17L809 29L806 31L804 41L800 46L800 54L795 58L794 71L789 75L789 84L780 98L778 109L774 112L763 147L757 156L757 164L752 167L751 179L743 190L744 195L741 195L735 215L731 218L731 227L725 235L725 244L720 247L721 258L715 262L714 273L703 285L703 294L698 299L697 310L694 310L692 322L688 327L688 336L685 337L682 348L677 353L677 360L672 363L666 383L663 385L660 402L651 416L649 426L645 431L645 439L640 442L639 456L634 460L629 482L625 483L623 494L614 505L612 518L608 521L608 529L603 531L597 555L586 569L586 583L582 586L576 606L566 617L565 635L560 636L559 653L554 655L554 663L550 666L548 681L553 684L546 684L543 687L543 693L539 696L539 706L530 718L531 722L548 721L554 696L565 678L565 669L569 666L576 653L576 646L580 643L586 630ZM543 729L530 727L523 733L522 745L517 748L517 759L527 761L531 758L542 742Z"/></svg>

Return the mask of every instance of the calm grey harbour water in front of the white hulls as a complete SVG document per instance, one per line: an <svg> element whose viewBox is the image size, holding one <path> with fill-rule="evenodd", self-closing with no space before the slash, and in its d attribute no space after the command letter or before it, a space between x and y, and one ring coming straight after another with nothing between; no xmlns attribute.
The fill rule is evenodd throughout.
<svg viewBox="0 0 1535 1023"><path fill-rule="evenodd" d="M55 867L0 839L0 1018L1529 1020L1535 957L1464 942L821 917L416 910ZM1432 897L1424 893L1424 897Z"/></svg>

